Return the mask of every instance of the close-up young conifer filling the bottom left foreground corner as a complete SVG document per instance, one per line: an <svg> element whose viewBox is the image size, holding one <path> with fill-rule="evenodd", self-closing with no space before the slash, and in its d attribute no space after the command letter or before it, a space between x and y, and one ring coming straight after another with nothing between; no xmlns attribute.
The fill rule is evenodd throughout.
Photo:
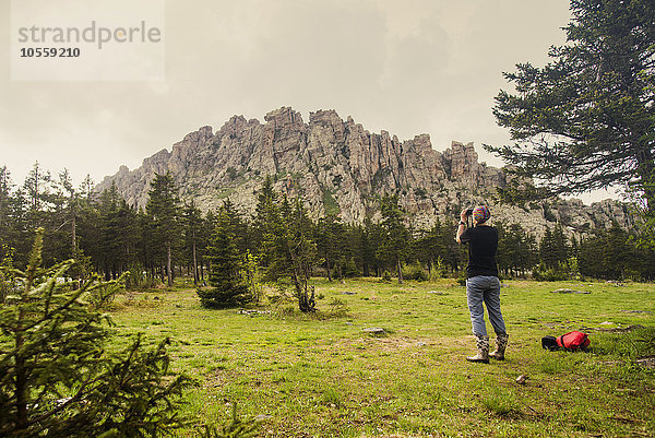
<svg viewBox="0 0 655 438"><path fill-rule="evenodd" d="M187 379L165 378L165 342L144 352L139 338L110 358L110 321L85 299L118 284L60 286L74 262L44 269L41 248L39 229L27 269L5 270L15 289L0 309L0 436L143 437L179 426L171 407Z"/></svg>

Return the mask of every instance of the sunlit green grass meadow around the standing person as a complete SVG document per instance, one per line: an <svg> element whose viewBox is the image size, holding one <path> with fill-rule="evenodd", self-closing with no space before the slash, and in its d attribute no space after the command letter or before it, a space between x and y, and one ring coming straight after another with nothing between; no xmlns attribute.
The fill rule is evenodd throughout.
<svg viewBox="0 0 655 438"><path fill-rule="evenodd" d="M633 363L655 354L653 284L504 282L508 359L489 365L465 360L475 342L464 287L452 280L315 285L323 298L312 316L284 300L262 305L272 312L257 316L203 309L188 283L130 300L119 296L112 346L138 332L153 344L170 336L174 370L195 381L184 413L223 423L237 402L242 416L266 415L259 428L265 437L639 437L655 430L655 372ZM550 293L561 287L592 293ZM636 324L646 329L591 330ZM386 335L364 331L374 327ZM541 336L580 329L591 334L590 353L541 350ZM528 376L523 386L515 382L520 375Z"/></svg>

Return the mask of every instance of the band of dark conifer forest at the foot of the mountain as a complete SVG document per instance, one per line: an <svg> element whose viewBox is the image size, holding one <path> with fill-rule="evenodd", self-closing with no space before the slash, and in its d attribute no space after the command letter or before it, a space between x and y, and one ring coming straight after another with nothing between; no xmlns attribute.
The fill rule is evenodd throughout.
<svg viewBox="0 0 655 438"><path fill-rule="evenodd" d="M128 205L115 187L94 192L87 177L73 187L67 170L57 177L35 164L21 186L7 167L0 168L0 260L25 267L35 229L45 228L44 262L78 261L74 275L97 272L107 280L130 271L133 287L168 282L178 275L207 282L216 236L228 236L239 265L272 272L281 262L272 249L283 232L301 232L311 275L327 279L377 276L430 280L461 276L466 247L454 240L458 217L437 221L430 229L408 227L393 196L380 199L382 220L344 224L335 215L311 221L300 200L276 193L270 179L259 192L253 216L229 200L206 213L178 199L169 175L151 182L146 208ZM537 280L594 277L653 280L655 251L640 249L619 226L593 229L581 239L568 238L561 226L548 229L540 241L521 224L493 224L499 229L498 264L505 277ZM227 233L227 234L226 234ZM294 242L287 242L289 251ZM218 248L219 249L219 248ZM283 263L284 264L284 263ZM284 269L278 272L284 274ZM279 276L277 275L277 276Z"/></svg>

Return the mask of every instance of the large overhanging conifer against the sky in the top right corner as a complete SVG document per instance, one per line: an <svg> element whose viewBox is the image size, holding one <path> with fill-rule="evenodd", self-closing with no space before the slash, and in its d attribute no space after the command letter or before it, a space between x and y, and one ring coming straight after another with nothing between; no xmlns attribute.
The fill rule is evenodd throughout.
<svg viewBox="0 0 655 438"><path fill-rule="evenodd" d="M493 114L512 146L486 146L520 179L505 198L544 198L630 184L655 217L655 2L572 0L567 43L544 68L504 73Z"/></svg>

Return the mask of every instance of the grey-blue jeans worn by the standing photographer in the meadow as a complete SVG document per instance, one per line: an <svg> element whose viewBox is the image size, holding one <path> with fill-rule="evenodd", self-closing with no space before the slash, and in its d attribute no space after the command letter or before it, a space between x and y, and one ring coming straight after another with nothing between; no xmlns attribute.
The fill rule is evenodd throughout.
<svg viewBox="0 0 655 438"><path fill-rule="evenodd" d="M486 336L485 308L489 312L489 322L496 334L507 333L502 312L500 311L500 281L497 276L473 276L466 280L466 300L471 312L473 334Z"/></svg>

